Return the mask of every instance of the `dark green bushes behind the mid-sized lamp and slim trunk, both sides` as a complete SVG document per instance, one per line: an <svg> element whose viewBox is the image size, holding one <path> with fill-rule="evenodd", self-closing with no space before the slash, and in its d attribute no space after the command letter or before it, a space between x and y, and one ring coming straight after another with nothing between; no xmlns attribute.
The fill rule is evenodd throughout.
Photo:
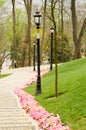
<svg viewBox="0 0 86 130"><path fill-rule="evenodd" d="M45 59L50 58L50 51L51 51L50 44L51 44L50 34L46 34L45 43L43 46L43 56ZM52 52L53 52L53 63L55 63L54 41L53 41ZM67 62L72 59L72 47L70 46L70 42L67 35L63 35L63 41L62 41L61 34L57 34L57 58L58 58L58 63Z"/></svg>

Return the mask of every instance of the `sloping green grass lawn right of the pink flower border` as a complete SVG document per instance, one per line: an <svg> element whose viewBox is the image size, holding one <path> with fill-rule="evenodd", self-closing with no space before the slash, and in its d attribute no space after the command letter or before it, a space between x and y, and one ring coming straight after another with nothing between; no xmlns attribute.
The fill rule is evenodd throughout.
<svg viewBox="0 0 86 130"><path fill-rule="evenodd" d="M35 99L47 111L59 114L61 121L72 130L86 130L86 59L63 63L58 66L57 98L54 94L55 71L42 77L42 94ZM36 84L25 88L34 95Z"/></svg>

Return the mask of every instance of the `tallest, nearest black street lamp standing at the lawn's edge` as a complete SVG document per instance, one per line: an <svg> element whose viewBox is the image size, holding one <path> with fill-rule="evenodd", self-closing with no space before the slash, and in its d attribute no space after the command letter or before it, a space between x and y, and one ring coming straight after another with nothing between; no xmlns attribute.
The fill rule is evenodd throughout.
<svg viewBox="0 0 86 130"><path fill-rule="evenodd" d="M42 93L41 91L41 76L40 76L40 20L41 20L41 14L37 11L34 14L34 21L37 28L37 88L36 88L36 95Z"/></svg>

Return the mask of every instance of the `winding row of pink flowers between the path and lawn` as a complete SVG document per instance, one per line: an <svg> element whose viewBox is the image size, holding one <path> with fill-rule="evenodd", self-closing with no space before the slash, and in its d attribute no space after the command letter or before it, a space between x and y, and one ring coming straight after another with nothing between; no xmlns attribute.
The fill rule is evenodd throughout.
<svg viewBox="0 0 86 130"><path fill-rule="evenodd" d="M46 73L46 71L42 71L41 75L44 73ZM21 88L14 90L15 94L20 99L22 108L26 111L28 116L31 116L38 121L40 130L70 130L68 126L63 126L59 115L47 112L45 108L38 104L32 95L22 90L22 88L34 81L36 81L36 77L30 79L30 81L28 81L26 85L24 84Z"/></svg>

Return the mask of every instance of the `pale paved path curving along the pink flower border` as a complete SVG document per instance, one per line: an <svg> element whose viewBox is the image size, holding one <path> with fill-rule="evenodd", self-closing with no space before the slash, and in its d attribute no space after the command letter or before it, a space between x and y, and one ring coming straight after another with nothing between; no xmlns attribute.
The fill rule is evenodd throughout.
<svg viewBox="0 0 86 130"><path fill-rule="evenodd" d="M42 66L46 69L49 66ZM32 67L2 70L11 73L0 79L0 130L39 130L38 123L21 108L18 97L13 93L36 75Z"/></svg>

